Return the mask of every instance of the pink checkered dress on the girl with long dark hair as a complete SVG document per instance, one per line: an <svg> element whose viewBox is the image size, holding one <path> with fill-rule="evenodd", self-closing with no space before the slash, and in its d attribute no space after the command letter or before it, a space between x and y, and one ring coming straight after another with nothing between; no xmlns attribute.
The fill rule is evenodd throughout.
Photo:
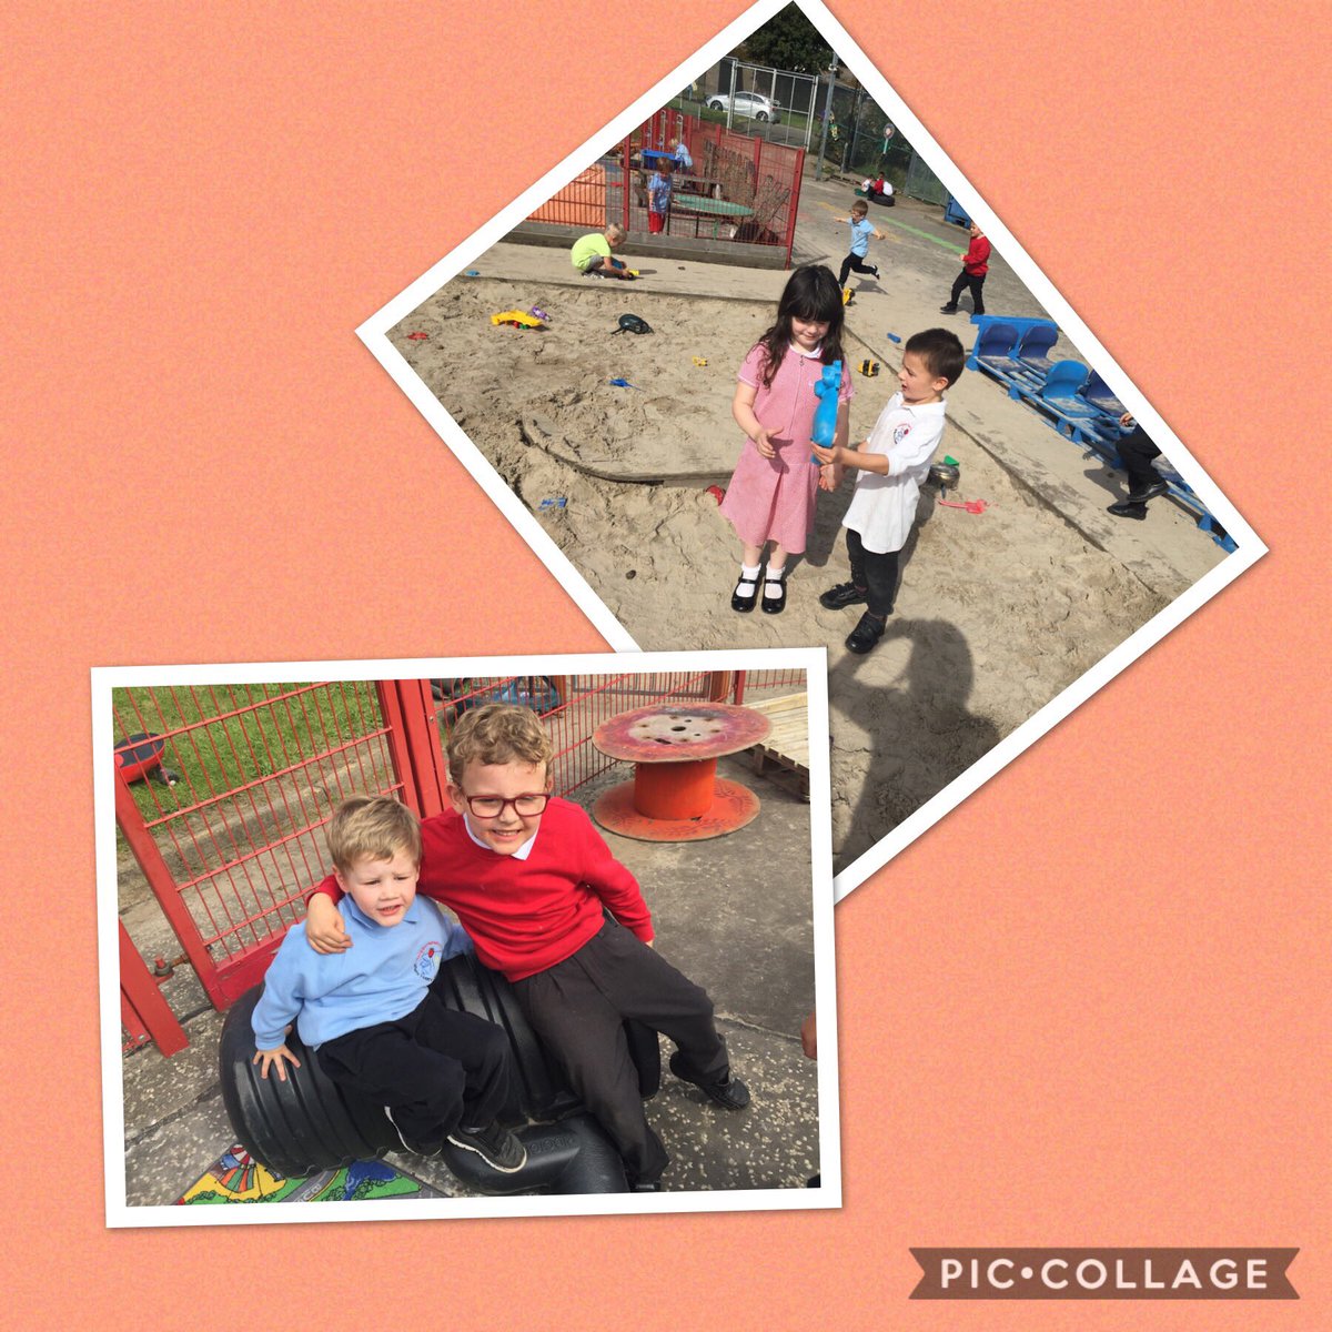
<svg viewBox="0 0 1332 1332"><path fill-rule="evenodd" d="M775 458L765 458L750 438L745 440L735 473L726 488L722 513L747 546L775 541L793 555L805 550L814 529L814 500L818 494L819 469L810 460L810 434L814 409L819 400L814 385L823 374L819 353L805 356L787 348L770 388L763 388L766 348L759 344L739 369L743 384L758 388L754 414L759 424L775 430ZM851 376L842 368L839 402L850 402Z"/></svg>

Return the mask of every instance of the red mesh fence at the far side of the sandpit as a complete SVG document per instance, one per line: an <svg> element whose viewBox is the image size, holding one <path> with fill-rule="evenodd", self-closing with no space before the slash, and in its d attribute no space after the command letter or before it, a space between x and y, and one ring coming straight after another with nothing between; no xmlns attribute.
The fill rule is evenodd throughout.
<svg viewBox="0 0 1332 1332"><path fill-rule="evenodd" d="M765 143L681 111L657 112L529 221L589 230L618 222L630 233L646 233L651 168L643 151L671 152L681 140L694 165L674 172L662 234L779 246L789 268L805 149Z"/></svg>

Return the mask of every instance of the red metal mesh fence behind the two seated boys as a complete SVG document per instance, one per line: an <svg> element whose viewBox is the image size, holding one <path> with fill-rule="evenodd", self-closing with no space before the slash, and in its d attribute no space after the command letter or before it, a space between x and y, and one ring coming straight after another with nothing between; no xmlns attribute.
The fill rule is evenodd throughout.
<svg viewBox="0 0 1332 1332"><path fill-rule="evenodd" d="M502 699L539 713L566 794L614 766L591 734L617 713L791 687L805 687L803 671L117 689L116 819L209 1000L225 1008L304 915L328 867L322 829L342 801L392 794L422 817L445 807L444 747L469 709ZM166 1054L177 1038L155 1026L140 968L121 970L129 1044L147 1030Z"/></svg>

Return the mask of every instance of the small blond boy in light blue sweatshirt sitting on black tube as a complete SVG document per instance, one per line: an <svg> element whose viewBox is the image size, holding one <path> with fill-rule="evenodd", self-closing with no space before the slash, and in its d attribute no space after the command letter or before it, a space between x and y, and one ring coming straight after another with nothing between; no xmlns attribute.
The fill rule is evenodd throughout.
<svg viewBox="0 0 1332 1332"><path fill-rule="evenodd" d="M498 1123L511 1099L509 1038L494 1023L445 1007L432 982L472 948L466 931L417 896L421 825L388 797L344 802L328 829L329 855L352 939L318 954L305 924L286 932L254 1006L254 1063L286 1080L300 1060L285 1035L296 1023L324 1072L384 1104L409 1152L445 1142L513 1173L527 1152Z"/></svg>

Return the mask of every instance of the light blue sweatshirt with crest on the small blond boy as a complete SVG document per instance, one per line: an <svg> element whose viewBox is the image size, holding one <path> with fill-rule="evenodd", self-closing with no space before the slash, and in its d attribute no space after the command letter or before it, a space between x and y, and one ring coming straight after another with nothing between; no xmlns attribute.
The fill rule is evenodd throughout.
<svg viewBox="0 0 1332 1332"><path fill-rule="evenodd" d="M425 998L440 964L472 948L466 930L429 898L417 896L390 926L370 920L350 896L341 910L353 944L346 952L316 952L304 920L286 931L250 1016L258 1050L282 1044L293 1019L313 1050L349 1031L405 1018Z"/></svg>

